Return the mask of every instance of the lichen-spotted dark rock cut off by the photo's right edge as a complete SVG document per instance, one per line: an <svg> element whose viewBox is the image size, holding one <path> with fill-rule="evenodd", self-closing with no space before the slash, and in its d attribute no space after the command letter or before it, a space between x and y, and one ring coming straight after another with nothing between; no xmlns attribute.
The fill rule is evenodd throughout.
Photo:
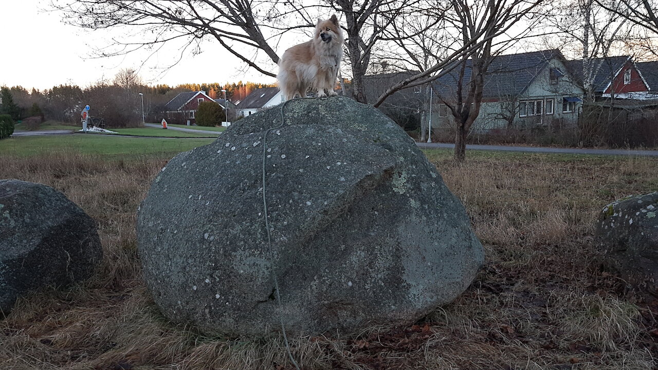
<svg viewBox="0 0 658 370"><path fill-rule="evenodd" d="M596 238L609 269L658 296L658 192L606 205Z"/></svg>

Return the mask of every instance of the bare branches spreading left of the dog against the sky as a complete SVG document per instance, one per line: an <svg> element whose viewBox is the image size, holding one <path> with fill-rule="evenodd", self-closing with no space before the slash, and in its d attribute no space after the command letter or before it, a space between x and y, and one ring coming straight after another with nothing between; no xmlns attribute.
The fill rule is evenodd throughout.
<svg viewBox="0 0 658 370"><path fill-rule="evenodd" d="M279 60L261 25L270 24L274 30L287 15L277 1L53 0L51 4L76 26L92 30L127 26L140 31L139 40L117 41L99 49L99 57L153 49L173 40L184 40L187 48L212 38L251 68L272 77L276 74L271 68L255 61L259 52L273 63ZM274 36L276 32L270 35Z"/></svg>

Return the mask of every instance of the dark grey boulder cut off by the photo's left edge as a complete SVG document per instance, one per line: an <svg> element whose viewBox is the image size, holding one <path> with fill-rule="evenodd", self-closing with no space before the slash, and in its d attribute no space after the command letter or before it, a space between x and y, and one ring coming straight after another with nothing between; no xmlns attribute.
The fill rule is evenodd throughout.
<svg viewBox="0 0 658 370"><path fill-rule="evenodd" d="M95 222L64 194L0 180L0 311L32 290L88 278L102 257Z"/></svg>

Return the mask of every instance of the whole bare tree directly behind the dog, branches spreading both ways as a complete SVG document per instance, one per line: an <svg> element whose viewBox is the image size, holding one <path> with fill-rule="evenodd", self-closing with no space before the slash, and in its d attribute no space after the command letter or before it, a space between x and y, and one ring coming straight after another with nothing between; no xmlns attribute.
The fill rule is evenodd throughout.
<svg viewBox="0 0 658 370"><path fill-rule="evenodd" d="M424 32L438 27L442 18L434 17L424 28L399 28L390 34L393 23L437 8L429 0L324 0L318 5L306 5L301 0L52 0L55 9L64 12L70 24L90 29L130 26L139 28L140 39L128 40L113 48L99 50L99 56L120 55L141 48L155 48L173 40L186 40L188 46L206 39L217 41L224 49L246 65L266 76L275 76L273 64L279 57L272 44L286 32L312 26L311 14L340 11L345 16L347 57L352 86L357 101L366 102L363 76L372 63L374 50L385 50L395 40L423 38ZM484 1L484 0L478 0ZM505 34L511 24L518 22L543 0L490 0L481 7L484 13L463 14L463 22L473 23L472 32L460 38L461 47L451 49L445 58L433 63L409 79L393 84L374 103L379 106L392 93L403 88L420 86L437 78L446 66L466 59L493 38ZM442 4L442 3L439 3ZM443 14L455 10L458 17L470 4L460 0L447 1ZM315 12L315 13L314 13ZM468 19L471 17L472 19ZM145 40L143 37L147 37ZM118 46L118 48L116 48ZM267 58L262 61L261 57Z"/></svg>

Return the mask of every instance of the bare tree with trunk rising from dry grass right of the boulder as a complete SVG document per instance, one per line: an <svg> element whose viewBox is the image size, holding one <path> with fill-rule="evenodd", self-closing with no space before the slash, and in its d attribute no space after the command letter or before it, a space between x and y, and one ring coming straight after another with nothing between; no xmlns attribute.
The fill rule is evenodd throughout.
<svg viewBox="0 0 658 370"><path fill-rule="evenodd" d="M437 51L438 43L399 38L405 40L398 42L401 49L422 71L392 86L379 97L375 105L379 105L395 90L428 84L448 73L457 76L453 93L449 96L438 95L438 99L453 116L455 159L463 161L468 132L480 114L488 67L497 53L530 34L533 26L542 19L533 14L541 3L542 0L451 0L449 9L434 14L444 32L437 37L443 43L444 50ZM528 27L517 33L511 32L513 25L523 20L528 21ZM399 28L413 30L408 25ZM417 37L423 36L419 34Z"/></svg>

